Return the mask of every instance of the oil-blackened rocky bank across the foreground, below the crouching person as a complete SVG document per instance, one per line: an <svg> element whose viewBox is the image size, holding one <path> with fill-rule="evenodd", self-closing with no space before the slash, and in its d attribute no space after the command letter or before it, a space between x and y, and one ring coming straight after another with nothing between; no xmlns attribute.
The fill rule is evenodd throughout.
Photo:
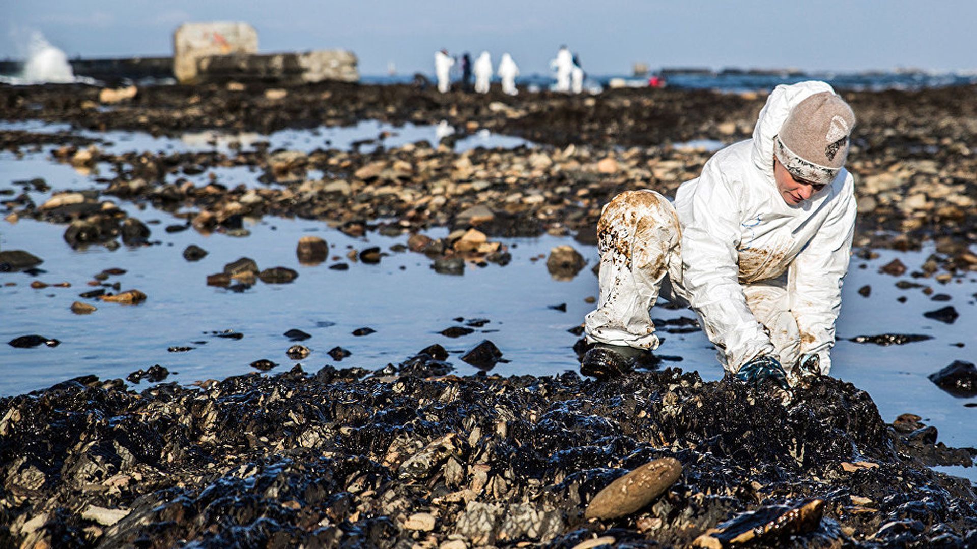
<svg viewBox="0 0 977 549"><path fill-rule="evenodd" d="M917 417L886 425L851 384L826 378L785 406L677 369L457 377L427 353L376 372L296 366L142 393L88 376L0 400L0 541L722 546L701 534L742 517L771 525L759 546L977 543L973 488L927 468L977 450L936 443ZM602 488L660 458L680 464L660 496L585 515ZM786 513L815 500L813 523Z"/></svg>

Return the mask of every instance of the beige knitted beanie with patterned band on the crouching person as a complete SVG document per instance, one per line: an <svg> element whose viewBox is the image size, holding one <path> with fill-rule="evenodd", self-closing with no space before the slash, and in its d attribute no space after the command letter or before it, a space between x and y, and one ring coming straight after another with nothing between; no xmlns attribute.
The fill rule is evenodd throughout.
<svg viewBox="0 0 977 549"><path fill-rule="evenodd" d="M831 92L798 103L774 138L774 154L790 175L828 185L848 157L852 107Z"/></svg>

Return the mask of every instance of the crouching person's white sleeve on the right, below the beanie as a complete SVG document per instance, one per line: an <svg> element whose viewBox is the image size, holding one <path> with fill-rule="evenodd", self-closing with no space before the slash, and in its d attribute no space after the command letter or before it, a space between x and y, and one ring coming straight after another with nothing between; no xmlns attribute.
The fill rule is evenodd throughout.
<svg viewBox="0 0 977 549"><path fill-rule="evenodd" d="M855 233L854 182L846 174L825 224L790 266L790 311L800 328L802 354L818 354L822 373L831 367L834 322L841 311L841 284L848 273Z"/></svg>

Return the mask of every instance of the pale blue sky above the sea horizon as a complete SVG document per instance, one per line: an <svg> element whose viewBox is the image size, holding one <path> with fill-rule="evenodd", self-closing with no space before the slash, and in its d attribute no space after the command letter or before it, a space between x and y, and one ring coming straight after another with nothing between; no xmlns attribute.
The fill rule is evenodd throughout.
<svg viewBox="0 0 977 549"><path fill-rule="evenodd" d="M248 22L261 53L351 50L366 75L431 73L441 48L545 73L561 44L592 74L977 69L972 0L0 0L0 59L22 59L33 31L70 58L169 56L186 21Z"/></svg>

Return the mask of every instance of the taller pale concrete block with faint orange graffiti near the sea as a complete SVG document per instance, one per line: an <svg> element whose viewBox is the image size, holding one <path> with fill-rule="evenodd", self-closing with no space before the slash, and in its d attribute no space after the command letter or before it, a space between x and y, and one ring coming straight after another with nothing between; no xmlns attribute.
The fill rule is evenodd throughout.
<svg viewBox="0 0 977 549"><path fill-rule="evenodd" d="M181 83L197 81L197 60L258 52L258 31L246 22L188 22L173 33L173 75Z"/></svg>

